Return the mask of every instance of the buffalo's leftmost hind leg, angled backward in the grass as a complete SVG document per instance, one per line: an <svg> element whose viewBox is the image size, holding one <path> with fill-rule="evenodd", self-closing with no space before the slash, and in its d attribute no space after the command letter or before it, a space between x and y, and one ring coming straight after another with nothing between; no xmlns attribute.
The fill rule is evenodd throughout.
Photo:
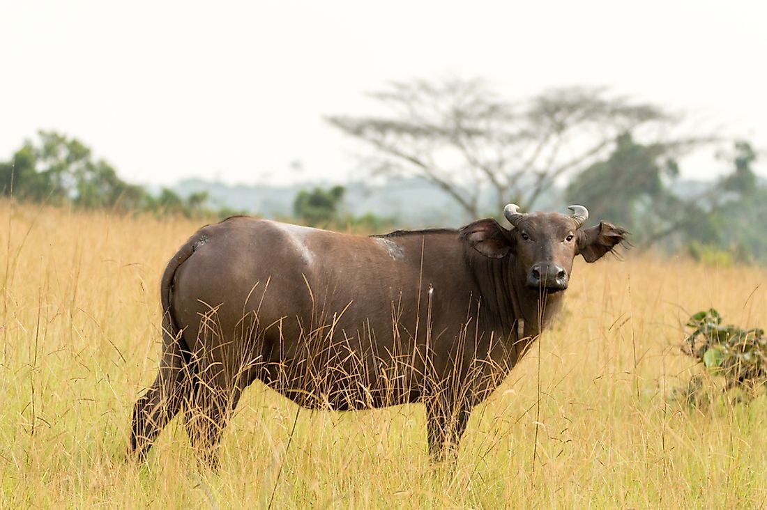
<svg viewBox="0 0 767 510"><path fill-rule="evenodd" d="M143 461L160 431L179 413L183 400L191 393L192 365L178 338L164 335L163 357L160 371L133 407L133 426L130 431L129 458Z"/></svg>

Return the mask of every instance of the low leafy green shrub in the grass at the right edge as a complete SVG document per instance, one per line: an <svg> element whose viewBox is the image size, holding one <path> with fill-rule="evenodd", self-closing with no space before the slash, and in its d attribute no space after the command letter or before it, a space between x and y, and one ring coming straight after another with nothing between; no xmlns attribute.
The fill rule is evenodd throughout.
<svg viewBox="0 0 767 510"><path fill-rule="evenodd" d="M690 317L683 351L695 357L709 373L723 376L726 388L752 390L767 381L767 338L764 330L723 324L713 308Z"/></svg>

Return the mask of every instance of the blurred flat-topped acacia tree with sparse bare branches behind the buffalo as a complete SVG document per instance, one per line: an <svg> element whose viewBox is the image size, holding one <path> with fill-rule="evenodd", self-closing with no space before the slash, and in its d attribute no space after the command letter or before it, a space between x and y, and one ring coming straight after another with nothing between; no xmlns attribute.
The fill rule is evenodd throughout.
<svg viewBox="0 0 767 510"><path fill-rule="evenodd" d="M513 102L485 81L451 78L394 82L371 96L389 114L328 122L373 147L378 172L423 177L473 217L486 186L497 211L509 201L532 209L555 183L609 153L620 133L673 122L658 107L601 88Z"/></svg>

